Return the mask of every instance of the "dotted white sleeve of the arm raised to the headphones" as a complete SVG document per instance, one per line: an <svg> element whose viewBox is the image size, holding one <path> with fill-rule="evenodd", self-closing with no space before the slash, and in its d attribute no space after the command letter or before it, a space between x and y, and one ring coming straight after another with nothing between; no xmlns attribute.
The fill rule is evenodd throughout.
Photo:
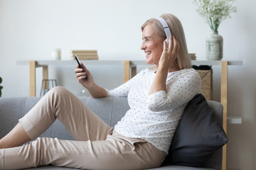
<svg viewBox="0 0 256 170"><path fill-rule="evenodd" d="M148 97L150 111L166 111L188 103L201 89L198 72L180 73L166 81L167 91L157 91Z"/></svg>

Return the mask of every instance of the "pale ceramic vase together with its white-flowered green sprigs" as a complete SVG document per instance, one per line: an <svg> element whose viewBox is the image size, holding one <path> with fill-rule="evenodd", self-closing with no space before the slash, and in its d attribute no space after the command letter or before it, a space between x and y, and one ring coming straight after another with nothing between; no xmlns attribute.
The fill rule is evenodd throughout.
<svg viewBox="0 0 256 170"><path fill-rule="evenodd" d="M220 23L231 18L230 13L235 13L233 6L235 0L194 0L198 6L196 11L209 24L213 33L206 38L206 58L208 60L221 60L223 58L223 38L218 34Z"/></svg>

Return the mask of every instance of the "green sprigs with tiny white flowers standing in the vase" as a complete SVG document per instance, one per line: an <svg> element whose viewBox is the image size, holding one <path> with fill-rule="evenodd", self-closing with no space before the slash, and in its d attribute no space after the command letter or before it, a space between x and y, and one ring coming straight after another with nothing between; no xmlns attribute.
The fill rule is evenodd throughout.
<svg viewBox="0 0 256 170"><path fill-rule="evenodd" d="M233 6L236 0L194 0L198 6L199 15L209 24L210 28L217 32L220 23L227 18L231 18L230 13L237 12Z"/></svg>

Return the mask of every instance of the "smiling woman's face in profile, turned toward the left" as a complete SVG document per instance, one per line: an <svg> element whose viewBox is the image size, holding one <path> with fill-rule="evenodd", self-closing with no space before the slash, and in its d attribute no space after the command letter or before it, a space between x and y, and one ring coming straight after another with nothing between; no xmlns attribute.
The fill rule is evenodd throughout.
<svg viewBox="0 0 256 170"><path fill-rule="evenodd" d="M144 27L142 40L141 50L144 50L146 54L146 64L156 64L158 66L164 49L164 40L156 35L151 24Z"/></svg>

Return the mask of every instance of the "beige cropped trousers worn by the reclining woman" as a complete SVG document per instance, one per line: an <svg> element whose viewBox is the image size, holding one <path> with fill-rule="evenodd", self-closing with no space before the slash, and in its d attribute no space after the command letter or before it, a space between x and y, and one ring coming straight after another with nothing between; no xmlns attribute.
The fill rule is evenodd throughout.
<svg viewBox="0 0 256 170"><path fill-rule="evenodd" d="M19 121L31 139L58 118L75 140L42 137L21 147L0 149L0 169L52 164L80 169L149 169L166 153L146 140L119 135L79 98L55 87Z"/></svg>

